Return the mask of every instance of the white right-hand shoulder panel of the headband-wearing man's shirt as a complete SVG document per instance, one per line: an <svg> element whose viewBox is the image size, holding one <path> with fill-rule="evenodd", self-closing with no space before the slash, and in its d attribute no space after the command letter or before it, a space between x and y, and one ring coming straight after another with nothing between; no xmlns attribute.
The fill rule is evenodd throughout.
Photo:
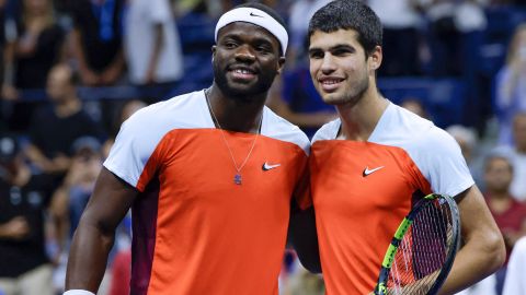
<svg viewBox="0 0 526 295"><path fill-rule="evenodd" d="M309 154L310 141L301 129L277 116L266 106L263 111L264 125L261 130L262 135L294 143Z"/></svg>

